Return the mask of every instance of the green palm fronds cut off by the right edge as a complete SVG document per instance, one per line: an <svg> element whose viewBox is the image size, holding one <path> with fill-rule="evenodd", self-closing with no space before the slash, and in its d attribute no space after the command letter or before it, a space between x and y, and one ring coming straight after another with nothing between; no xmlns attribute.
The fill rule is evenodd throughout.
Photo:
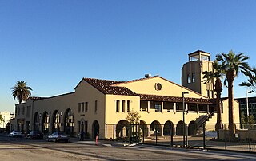
<svg viewBox="0 0 256 161"><path fill-rule="evenodd" d="M256 68L246 71L242 71L242 73L248 77L247 81L242 82L239 84L240 86L250 88L250 92L256 92Z"/></svg>

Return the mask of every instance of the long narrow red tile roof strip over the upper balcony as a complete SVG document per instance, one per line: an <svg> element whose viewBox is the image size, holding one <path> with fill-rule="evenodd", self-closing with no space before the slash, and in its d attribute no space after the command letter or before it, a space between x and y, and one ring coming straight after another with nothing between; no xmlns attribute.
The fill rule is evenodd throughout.
<svg viewBox="0 0 256 161"><path fill-rule="evenodd" d="M182 97L178 97L178 96L157 96L157 95L144 95L144 94L139 94L139 96L141 100L182 102ZM209 99L203 99L203 98L185 97L185 102L194 103L194 104L212 104Z"/></svg>

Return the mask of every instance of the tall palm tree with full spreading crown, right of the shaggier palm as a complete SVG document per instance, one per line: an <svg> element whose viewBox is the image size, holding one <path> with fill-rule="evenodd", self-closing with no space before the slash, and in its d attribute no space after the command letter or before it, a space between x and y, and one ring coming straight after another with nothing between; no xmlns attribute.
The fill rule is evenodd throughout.
<svg viewBox="0 0 256 161"><path fill-rule="evenodd" d="M230 139L234 140L235 127L234 127L234 78L238 73L243 70L251 70L246 60L249 57L244 53L234 53L232 50L229 53L218 53L216 60L222 63L222 71L225 71L226 81L228 83L228 98L229 98L229 135Z"/></svg>

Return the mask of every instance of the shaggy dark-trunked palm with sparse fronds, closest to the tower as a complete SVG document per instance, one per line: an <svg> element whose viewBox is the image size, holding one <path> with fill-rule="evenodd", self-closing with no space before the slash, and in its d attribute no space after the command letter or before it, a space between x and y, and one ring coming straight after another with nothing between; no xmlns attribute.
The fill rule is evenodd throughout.
<svg viewBox="0 0 256 161"><path fill-rule="evenodd" d="M216 92L216 110L217 110L217 123L216 123L216 131L218 133L219 138L219 130L222 129L222 108L221 108L221 95L222 95L222 80L223 72L221 65L218 64L217 60L213 62L214 71L204 71L203 79L205 79L204 83L208 83L210 81L214 81L214 91Z"/></svg>

